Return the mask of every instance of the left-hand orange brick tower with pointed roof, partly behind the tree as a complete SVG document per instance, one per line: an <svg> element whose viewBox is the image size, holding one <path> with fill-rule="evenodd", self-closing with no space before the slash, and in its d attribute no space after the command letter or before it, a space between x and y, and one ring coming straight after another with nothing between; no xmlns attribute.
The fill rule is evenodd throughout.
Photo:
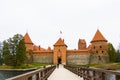
<svg viewBox="0 0 120 80"><path fill-rule="evenodd" d="M24 42L25 42L25 46L26 46L26 50L27 50L27 51L33 50L33 42L32 42L32 40L30 39L28 33L26 33L25 36L24 36Z"/></svg>

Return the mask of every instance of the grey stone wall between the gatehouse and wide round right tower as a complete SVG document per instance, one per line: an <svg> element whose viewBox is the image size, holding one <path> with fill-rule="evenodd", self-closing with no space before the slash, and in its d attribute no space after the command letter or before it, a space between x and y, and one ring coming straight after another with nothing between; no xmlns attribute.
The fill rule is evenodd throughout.
<svg viewBox="0 0 120 80"><path fill-rule="evenodd" d="M86 65L89 64L89 53L86 52L69 52L67 53L68 65Z"/></svg>

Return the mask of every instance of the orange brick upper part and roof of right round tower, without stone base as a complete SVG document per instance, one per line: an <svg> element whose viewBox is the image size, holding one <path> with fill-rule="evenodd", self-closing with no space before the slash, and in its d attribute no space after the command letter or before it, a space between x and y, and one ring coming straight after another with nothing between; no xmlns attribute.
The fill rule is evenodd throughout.
<svg viewBox="0 0 120 80"><path fill-rule="evenodd" d="M107 45L107 40L105 37L102 35L102 33L97 30L95 33L95 36L93 37L92 41L92 52L94 54L107 54L108 50L108 45Z"/></svg>

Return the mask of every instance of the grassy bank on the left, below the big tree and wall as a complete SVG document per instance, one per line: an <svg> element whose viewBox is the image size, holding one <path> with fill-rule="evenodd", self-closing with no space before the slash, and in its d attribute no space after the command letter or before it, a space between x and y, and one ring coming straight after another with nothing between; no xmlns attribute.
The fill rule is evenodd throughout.
<svg viewBox="0 0 120 80"><path fill-rule="evenodd" d="M0 69L31 69L31 68L39 69L39 68L42 68L43 66L47 66L47 65L51 65L51 64L46 64L46 63L30 63L30 64L23 64L21 66L16 66L16 67L2 65L2 66L0 66Z"/></svg>

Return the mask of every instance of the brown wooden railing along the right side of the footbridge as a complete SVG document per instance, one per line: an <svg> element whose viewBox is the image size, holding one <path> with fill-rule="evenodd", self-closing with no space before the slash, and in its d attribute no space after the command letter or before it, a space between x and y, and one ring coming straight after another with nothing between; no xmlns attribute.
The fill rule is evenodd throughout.
<svg viewBox="0 0 120 80"><path fill-rule="evenodd" d="M66 69L83 77L84 80L120 80L120 72L98 68L64 66Z"/></svg>

